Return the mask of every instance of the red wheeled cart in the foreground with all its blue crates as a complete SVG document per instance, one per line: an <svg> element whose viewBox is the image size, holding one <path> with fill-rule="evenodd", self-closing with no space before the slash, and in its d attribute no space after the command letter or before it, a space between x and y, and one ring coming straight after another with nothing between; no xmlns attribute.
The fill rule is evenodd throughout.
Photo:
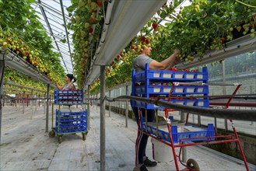
<svg viewBox="0 0 256 171"><path fill-rule="evenodd" d="M132 96L153 98L176 103L177 105L209 107L209 76L206 67L202 68L202 72L150 70L149 64L146 64L145 68L144 72L135 73L135 70L132 71ZM237 86L237 89L239 87ZM237 89L233 92L233 95L237 92ZM226 105L227 107L231 99L232 96ZM184 147L229 143L231 141L239 145L240 153L248 170L244 152L234 127L234 138L229 135L219 135L212 123L207 124L206 127L188 124L188 115L185 123L174 122L173 116L169 114L170 111L174 111L173 109L135 100L132 100L131 104L138 107L140 113L138 134L139 131L142 131L143 134L148 134L156 141L170 146L176 170L180 169L177 163L175 148L180 148L178 158L181 162L181 150ZM141 109L145 109L145 117L142 117ZM155 122L147 121L147 110L156 110ZM157 110L164 110L164 120L158 120ZM233 125L232 120L230 122ZM219 140L219 138L223 138L223 140ZM194 159L188 159L186 163L181 162L181 165L186 167L184 170L199 170L198 163ZM137 166L137 163L135 163L135 166Z"/></svg>

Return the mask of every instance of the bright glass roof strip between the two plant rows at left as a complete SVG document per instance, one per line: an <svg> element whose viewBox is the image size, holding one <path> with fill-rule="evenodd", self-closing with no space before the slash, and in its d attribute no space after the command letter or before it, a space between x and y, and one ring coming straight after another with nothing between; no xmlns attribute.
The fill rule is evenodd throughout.
<svg viewBox="0 0 256 171"><path fill-rule="evenodd" d="M54 51L61 54L61 65L65 68L65 72L72 73L72 33L66 27L70 21L66 10L69 5L71 5L70 0L37 0L33 8L38 12L40 22L46 28L47 34L52 38Z"/></svg>

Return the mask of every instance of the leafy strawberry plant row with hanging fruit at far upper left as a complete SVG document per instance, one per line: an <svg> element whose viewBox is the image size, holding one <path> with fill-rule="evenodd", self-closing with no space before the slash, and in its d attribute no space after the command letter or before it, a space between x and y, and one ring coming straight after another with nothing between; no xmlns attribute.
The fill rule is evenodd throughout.
<svg viewBox="0 0 256 171"><path fill-rule="evenodd" d="M49 37L31 6L35 0L0 1L0 45L29 62L54 82L65 78L60 54L53 51Z"/></svg>

